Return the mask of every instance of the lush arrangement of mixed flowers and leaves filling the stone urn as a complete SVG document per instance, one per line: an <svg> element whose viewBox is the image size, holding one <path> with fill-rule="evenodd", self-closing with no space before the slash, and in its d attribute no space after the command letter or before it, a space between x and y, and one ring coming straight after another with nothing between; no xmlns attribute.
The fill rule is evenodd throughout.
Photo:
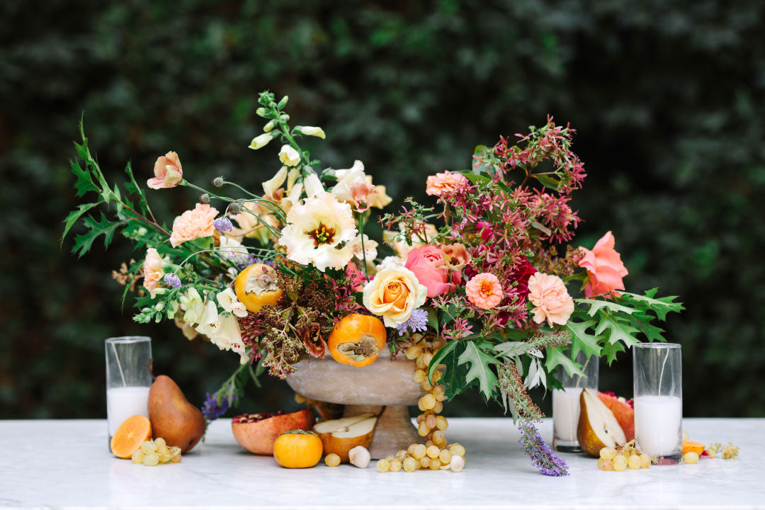
<svg viewBox="0 0 765 510"><path fill-rule="evenodd" d="M428 177L435 206L407 199L399 213L379 216L391 202L386 187L361 161L322 168L299 142L324 131L290 127L287 102L259 96L265 126L249 148L276 145L280 163L262 190L226 177L204 189L184 177L178 154L157 159L151 190L200 193L171 226L155 218L147 193L156 192L130 165L122 188L109 186L80 128L72 171L77 196L93 200L65 220L64 236L75 223L86 227L73 252L88 252L99 236L109 245L119 232L145 252L114 274L123 300L135 294L135 320L174 320L187 338L236 352L239 368L208 395L210 419L236 402L248 374L285 378L301 359L327 354L374 361L381 349L367 337L330 340L344 317L373 316L391 356L418 359L423 388L436 385L434 395L448 399L475 386L502 401L542 473L566 474L534 427L542 413L528 390L559 386L558 371L580 372L580 351L611 362L640 341L662 341L656 322L682 310L656 289L624 290L628 272L611 232L592 248L570 244L580 222L571 194L585 177L571 151L575 130L549 118L514 145L479 146L470 170ZM365 233L373 221L382 242Z"/></svg>

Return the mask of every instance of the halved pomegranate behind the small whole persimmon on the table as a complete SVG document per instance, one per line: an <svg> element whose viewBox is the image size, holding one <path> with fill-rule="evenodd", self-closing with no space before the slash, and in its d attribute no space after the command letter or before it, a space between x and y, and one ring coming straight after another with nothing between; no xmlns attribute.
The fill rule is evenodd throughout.
<svg viewBox="0 0 765 510"><path fill-rule="evenodd" d="M295 413L240 414L231 420L231 430L236 442L245 450L258 455L273 455L274 441L279 434L290 430L311 430L314 427L314 411L303 409Z"/></svg>

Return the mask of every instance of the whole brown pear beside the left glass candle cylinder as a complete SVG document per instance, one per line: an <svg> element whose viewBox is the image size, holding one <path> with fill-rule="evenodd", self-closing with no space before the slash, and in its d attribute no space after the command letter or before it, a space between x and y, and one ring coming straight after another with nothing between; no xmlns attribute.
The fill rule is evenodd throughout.
<svg viewBox="0 0 765 510"><path fill-rule="evenodd" d="M181 388L167 375L160 375L148 391L148 419L154 437L168 447L186 453L199 443L207 427L202 411L186 400Z"/></svg>

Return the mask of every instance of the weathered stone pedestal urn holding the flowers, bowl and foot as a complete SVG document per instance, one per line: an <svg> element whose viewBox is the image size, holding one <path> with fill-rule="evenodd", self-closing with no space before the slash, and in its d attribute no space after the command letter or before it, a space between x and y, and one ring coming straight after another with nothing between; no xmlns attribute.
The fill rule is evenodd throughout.
<svg viewBox="0 0 765 510"><path fill-rule="evenodd" d="M343 365L327 356L304 359L295 368L297 370L287 376L287 384L312 400L345 404L343 416L377 414L386 406L369 447L373 459L395 455L422 439L412 425L406 406L417 404L423 391L412 380L415 362L405 356L396 356L394 361L386 348L375 362L364 367Z"/></svg>

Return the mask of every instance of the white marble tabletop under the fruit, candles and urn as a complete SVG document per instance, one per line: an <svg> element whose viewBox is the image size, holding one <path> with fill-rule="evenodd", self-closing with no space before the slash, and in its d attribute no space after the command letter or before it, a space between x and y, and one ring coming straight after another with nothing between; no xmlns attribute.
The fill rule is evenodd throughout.
<svg viewBox="0 0 765 510"><path fill-rule="evenodd" d="M765 419L684 421L694 440L736 443L739 461L604 473L564 454L562 478L535 471L509 419L450 423L461 473L283 469L240 448L228 419L180 464L146 467L109 453L106 421L0 421L0 508L765 508ZM548 439L551 421L540 430Z"/></svg>

